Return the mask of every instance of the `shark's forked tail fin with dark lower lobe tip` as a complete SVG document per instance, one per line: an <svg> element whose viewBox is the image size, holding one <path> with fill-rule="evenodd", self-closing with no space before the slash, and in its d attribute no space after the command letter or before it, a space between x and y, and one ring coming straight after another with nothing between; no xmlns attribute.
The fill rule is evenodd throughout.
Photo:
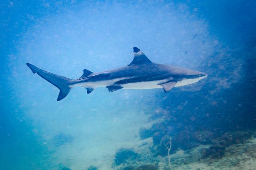
<svg viewBox="0 0 256 170"><path fill-rule="evenodd" d="M33 73L37 73L39 76L60 89L57 101L64 99L70 92L71 88L69 85L72 83L72 79L41 70L40 68L37 68L36 66L29 63L27 63L27 66L32 70Z"/></svg>

